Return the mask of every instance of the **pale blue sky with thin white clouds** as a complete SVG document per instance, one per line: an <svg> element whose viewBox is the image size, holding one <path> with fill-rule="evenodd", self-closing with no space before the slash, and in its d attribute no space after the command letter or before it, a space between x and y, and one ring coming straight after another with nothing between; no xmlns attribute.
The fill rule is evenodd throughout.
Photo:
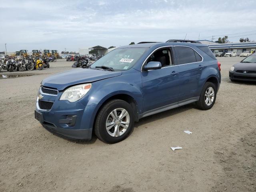
<svg viewBox="0 0 256 192"><path fill-rule="evenodd" d="M256 41L255 0L1 0L0 51L169 39Z"/></svg>

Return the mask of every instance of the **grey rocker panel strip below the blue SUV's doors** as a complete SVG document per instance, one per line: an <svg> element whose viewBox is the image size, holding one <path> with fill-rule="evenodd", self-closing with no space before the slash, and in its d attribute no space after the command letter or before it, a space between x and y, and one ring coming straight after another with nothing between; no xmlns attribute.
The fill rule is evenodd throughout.
<svg viewBox="0 0 256 192"><path fill-rule="evenodd" d="M198 97L192 97L192 98L180 101L180 102L172 103L172 104L169 104L169 105L166 105L166 106L162 106L162 107L159 107L159 108L156 108L156 109L152 109L150 111L146 111L146 112L140 114L139 119L143 118L143 117L150 116L150 115L154 115L154 114L157 114L157 113L160 113L160 112L164 112L164 111L167 111L167 110L170 110L170 109L173 109L173 108L177 108L177 107L180 107L180 106L183 106L183 105L186 105L186 104L190 104L190 103L196 102L198 100L199 100L199 96Z"/></svg>

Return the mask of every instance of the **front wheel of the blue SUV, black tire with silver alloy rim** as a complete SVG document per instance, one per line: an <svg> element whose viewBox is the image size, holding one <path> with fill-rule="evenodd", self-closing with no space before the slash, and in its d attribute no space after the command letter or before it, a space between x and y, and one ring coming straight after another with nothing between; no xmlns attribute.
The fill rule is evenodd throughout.
<svg viewBox="0 0 256 192"><path fill-rule="evenodd" d="M124 140L134 127L134 112L124 100L111 100L98 113L94 131L96 136L106 143Z"/></svg>

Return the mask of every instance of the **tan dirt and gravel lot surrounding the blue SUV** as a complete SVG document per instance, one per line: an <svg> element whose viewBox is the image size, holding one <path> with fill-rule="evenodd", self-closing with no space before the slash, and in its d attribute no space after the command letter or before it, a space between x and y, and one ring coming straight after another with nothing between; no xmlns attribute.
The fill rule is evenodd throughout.
<svg viewBox="0 0 256 192"><path fill-rule="evenodd" d="M222 84L211 110L191 104L143 118L112 145L60 138L34 119L40 82L73 62L0 79L0 192L256 191L256 84L230 82L241 58L218 60Z"/></svg>

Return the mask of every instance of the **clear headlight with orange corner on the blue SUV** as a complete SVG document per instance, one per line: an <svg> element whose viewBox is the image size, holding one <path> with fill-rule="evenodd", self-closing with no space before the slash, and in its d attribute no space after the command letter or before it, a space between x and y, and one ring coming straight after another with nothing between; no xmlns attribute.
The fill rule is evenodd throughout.
<svg viewBox="0 0 256 192"><path fill-rule="evenodd" d="M72 86L62 93L60 100L68 100L69 102L75 102L83 96L85 96L91 87L92 84L90 83Z"/></svg>

